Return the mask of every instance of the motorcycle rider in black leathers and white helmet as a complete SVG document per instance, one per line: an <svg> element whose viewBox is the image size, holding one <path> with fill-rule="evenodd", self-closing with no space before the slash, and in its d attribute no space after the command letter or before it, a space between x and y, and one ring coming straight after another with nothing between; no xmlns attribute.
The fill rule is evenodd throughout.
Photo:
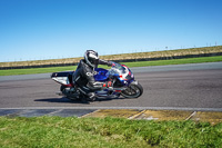
<svg viewBox="0 0 222 148"><path fill-rule="evenodd" d="M98 65L112 66L112 62L99 59L98 52L87 50L84 59L81 59L75 72L72 76L72 81L78 86L78 90L85 95L91 101L95 100L95 90L112 87L112 81L100 82L94 80Z"/></svg>

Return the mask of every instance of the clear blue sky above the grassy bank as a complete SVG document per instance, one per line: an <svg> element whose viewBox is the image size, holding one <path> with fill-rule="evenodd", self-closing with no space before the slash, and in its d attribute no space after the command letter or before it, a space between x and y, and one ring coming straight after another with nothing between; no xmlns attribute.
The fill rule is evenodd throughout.
<svg viewBox="0 0 222 148"><path fill-rule="evenodd" d="M222 0L0 0L0 62L222 45Z"/></svg>

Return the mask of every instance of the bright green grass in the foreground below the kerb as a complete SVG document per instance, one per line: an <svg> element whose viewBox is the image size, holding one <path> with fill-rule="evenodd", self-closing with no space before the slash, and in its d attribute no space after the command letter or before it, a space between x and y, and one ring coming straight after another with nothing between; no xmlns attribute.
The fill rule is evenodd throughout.
<svg viewBox="0 0 222 148"><path fill-rule="evenodd" d="M0 147L221 147L222 124L122 118L0 117Z"/></svg>

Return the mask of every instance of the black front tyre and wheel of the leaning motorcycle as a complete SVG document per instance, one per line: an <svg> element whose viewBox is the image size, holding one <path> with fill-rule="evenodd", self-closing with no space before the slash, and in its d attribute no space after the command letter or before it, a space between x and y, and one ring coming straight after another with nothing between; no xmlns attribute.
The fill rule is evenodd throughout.
<svg viewBox="0 0 222 148"><path fill-rule="evenodd" d="M139 82L130 83L130 86L121 92L125 98L138 98L143 93L143 88Z"/></svg>

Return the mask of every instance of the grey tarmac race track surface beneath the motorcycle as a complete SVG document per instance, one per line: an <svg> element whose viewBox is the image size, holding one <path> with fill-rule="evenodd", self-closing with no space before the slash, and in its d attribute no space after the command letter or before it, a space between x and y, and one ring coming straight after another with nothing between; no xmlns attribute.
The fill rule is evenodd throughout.
<svg viewBox="0 0 222 148"><path fill-rule="evenodd" d="M132 71L144 89L140 98L94 102L57 96L60 85L50 79L50 73L0 77L0 115L12 111L8 115L67 117L70 109L77 116L82 116L81 109L88 110L85 114L97 109L222 111L222 62L143 67Z"/></svg>

